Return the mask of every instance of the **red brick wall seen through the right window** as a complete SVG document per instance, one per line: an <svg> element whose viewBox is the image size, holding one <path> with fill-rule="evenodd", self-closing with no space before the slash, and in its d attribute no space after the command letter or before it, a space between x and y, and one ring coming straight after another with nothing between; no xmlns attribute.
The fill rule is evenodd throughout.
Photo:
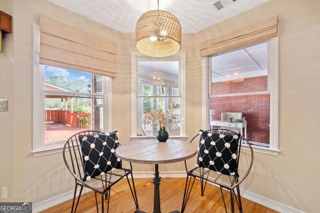
<svg viewBox="0 0 320 213"><path fill-rule="evenodd" d="M264 77L266 76L249 78L249 80L246 78L245 81L236 83L217 82L212 83L211 86L214 88L215 94L252 92L253 88L256 91L265 91L267 88L267 81L265 81ZM248 85L244 82L251 83ZM251 84L255 86L252 86ZM249 141L269 143L269 94L210 98L210 109L214 110L214 120L221 119L221 112L242 112L243 117L245 117L245 120L247 121L247 139Z"/></svg>

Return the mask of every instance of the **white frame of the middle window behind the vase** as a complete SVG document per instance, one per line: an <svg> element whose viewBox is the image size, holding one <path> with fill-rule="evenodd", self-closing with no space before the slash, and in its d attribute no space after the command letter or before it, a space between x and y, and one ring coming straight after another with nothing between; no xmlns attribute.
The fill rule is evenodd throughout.
<svg viewBox="0 0 320 213"><path fill-rule="evenodd" d="M137 100L138 94L138 61L179 61L179 91L180 91L180 117L184 117L183 124L180 125L181 135L170 136L169 139L186 140L186 98L185 98L185 52L178 52L174 55L156 58L146 56L140 52L131 52L131 140L153 139L155 136L136 136L137 123Z"/></svg>

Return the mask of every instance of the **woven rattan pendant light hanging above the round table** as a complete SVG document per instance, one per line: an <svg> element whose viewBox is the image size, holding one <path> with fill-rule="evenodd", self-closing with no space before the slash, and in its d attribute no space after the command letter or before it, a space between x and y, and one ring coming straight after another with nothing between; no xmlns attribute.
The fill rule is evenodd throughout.
<svg viewBox="0 0 320 213"><path fill-rule="evenodd" d="M150 10L141 15L135 27L136 49L149 56L164 57L181 48L181 25L170 12Z"/></svg>

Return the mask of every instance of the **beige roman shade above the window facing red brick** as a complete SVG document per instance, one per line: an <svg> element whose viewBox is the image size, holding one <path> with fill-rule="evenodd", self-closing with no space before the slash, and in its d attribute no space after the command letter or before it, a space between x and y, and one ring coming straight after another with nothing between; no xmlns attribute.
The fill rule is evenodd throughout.
<svg viewBox="0 0 320 213"><path fill-rule="evenodd" d="M201 42L200 56L214 55L275 36L277 36L277 16Z"/></svg>

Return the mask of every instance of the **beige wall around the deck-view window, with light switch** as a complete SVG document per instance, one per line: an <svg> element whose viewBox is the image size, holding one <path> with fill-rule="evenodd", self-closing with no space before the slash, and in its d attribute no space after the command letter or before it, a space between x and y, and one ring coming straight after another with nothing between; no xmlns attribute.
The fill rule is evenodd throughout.
<svg viewBox="0 0 320 213"><path fill-rule="evenodd" d="M9 102L9 111L0 113L0 185L8 187L8 199L0 201L38 203L70 191L74 180L61 153L38 158L30 154L33 23L44 14L117 43L121 33L46 0L1 0L0 9L13 17L13 33L5 37L0 53L0 98Z"/></svg>

